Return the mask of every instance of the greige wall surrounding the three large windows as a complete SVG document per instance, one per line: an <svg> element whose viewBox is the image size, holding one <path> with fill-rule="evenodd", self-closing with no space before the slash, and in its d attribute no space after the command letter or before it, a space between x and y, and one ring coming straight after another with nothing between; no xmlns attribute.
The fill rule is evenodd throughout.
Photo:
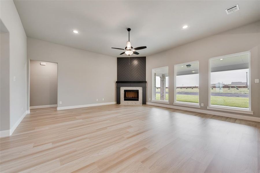
<svg viewBox="0 0 260 173"><path fill-rule="evenodd" d="M254 79L260 78L260 21L146 57L147 101L151 102L149 98L152 98L153 68L169 66L169 103L173 105L174 64L198 60L199 99L200 103L204 103L200 109L206 110L209 58L249 50L251 51L251 106L254 114L241 115L260 117L260 84L254 83Z"/></svg>

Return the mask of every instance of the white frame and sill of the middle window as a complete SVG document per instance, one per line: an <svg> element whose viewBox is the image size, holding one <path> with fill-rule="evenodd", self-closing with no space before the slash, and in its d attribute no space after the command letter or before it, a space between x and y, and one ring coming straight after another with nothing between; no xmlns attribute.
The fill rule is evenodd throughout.
<svg viewBox="0 0 260 173"><path fill-rule="evenodd" d="M194 63L198 63L198 87L200 88L200 62L199 60L197 61L191 61L191 62L185 62L185 63L180 63L180 64L175 64L174 65L174 105L177 106L190 106L190 107L194 107L194 108L200 108L200 91L199 91L199 95L198 95L198 103L191 103L191 102L183 102L183 101L176 101L176 76L177 76L177 66L178 65L183 65L183 64L194 64Z"/></svg>

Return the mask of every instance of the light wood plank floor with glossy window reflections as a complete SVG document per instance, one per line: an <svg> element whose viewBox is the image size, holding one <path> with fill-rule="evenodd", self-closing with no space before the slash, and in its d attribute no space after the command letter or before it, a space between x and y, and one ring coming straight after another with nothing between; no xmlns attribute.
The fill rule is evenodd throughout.
<svg viewBox="0 0 260 173"><path fill-rule="evenodd" d="M1 172L259 172L260 123L156 106L34 109Z"/></svg>

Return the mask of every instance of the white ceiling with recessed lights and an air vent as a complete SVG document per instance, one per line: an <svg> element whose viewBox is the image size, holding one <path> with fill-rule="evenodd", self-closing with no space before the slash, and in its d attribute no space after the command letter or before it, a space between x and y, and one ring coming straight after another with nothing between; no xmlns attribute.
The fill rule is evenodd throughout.
<svg viewBox="0 0 260 173"><path fill-rule="evenodd" d="M138 52L148 56L260 20L260 1L249 0L14 3L27 37L114 57L126 56L111 47L125 48L128 27L132 46L147 46ZM227 15L225 9L237 3L240 10Z"/></svg>

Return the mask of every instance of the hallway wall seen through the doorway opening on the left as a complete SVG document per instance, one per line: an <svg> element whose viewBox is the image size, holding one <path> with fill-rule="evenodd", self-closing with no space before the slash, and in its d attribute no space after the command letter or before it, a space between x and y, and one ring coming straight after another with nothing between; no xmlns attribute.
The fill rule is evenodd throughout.
<svg viewBox="0 0 260 173"><path fill-rule="evenodd" d="M56 105L58 86L57 63L30 61L30 106Z"/></svg>

